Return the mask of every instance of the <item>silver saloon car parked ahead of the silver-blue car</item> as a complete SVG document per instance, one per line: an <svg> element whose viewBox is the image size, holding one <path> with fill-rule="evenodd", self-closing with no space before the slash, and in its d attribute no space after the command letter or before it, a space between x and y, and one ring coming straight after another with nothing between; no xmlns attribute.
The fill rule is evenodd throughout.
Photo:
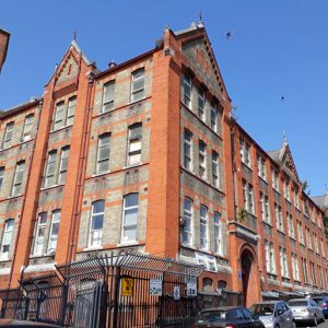
<svg viewBox="0 0 328 328"><path fill-rule="evenodd" d="M293 312L294 320L300 323L311 323L317 326L325 323L325 316L318 304L312 298L296 298L289 302Z"/></svg>

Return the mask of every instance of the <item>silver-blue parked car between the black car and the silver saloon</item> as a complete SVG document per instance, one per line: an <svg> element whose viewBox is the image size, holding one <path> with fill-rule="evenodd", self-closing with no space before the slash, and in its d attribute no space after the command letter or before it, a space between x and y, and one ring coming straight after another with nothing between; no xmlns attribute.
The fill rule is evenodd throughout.
<svg viewBox="0 0 328 328"><path fill-rule="evenodd" d="M293 313L283 301L268 301L251 305L250 312L259 316L266 328L295 328Z"/></svg>

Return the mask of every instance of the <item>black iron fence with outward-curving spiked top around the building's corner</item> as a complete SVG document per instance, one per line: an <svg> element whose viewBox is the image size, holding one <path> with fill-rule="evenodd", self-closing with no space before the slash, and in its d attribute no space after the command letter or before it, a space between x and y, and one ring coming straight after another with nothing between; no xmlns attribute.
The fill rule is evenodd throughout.
<svg viewBox="0 0 328 328"><path fill-rule="evenodd" d="M87 258L0 291L1 317L79 328L190 327L199 300L188 282L201 271L144 254Z"/></svg>

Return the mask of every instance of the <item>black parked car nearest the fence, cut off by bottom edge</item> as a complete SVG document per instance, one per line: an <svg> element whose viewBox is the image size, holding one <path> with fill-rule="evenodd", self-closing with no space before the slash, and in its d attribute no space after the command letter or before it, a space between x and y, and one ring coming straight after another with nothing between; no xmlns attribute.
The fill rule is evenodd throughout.
<svg viewBox="0 0 328 328"><path fill-rule="evenodd" d="M203 309L192 327L265 328L258 316L242 306Z"/></svg>

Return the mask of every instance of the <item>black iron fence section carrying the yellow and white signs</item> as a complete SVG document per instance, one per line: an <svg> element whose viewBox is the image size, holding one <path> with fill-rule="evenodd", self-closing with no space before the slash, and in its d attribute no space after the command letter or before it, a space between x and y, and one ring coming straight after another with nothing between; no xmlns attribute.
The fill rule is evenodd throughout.
<svg viewBox="0 0 328 328"><path fill-rule="evenodd" d="M196 282L201 267L131 254L109 268L109 327L191 327L196 294L188 293L187 282Z"/></svg>

